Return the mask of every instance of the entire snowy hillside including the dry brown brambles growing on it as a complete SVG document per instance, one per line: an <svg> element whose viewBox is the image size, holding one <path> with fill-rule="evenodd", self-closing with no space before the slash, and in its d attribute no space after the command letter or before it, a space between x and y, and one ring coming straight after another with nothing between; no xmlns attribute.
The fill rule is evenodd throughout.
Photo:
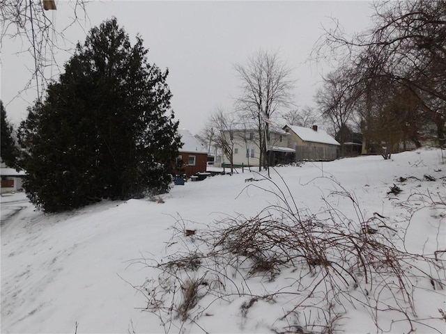
<svg viewBox="0 0 446 334"><path fill-rule="evenodd" d="M445 333L445 161L433 149L280 167L271 180L218 175L67 214L2 197L1 333ZM274 234L285 244L290 221L315 224L305 242L337 237L313 263L300 249L255 267L247 248L226 246L259 221L285 221ZM334 260L361 250L363 268Z"/></svg>

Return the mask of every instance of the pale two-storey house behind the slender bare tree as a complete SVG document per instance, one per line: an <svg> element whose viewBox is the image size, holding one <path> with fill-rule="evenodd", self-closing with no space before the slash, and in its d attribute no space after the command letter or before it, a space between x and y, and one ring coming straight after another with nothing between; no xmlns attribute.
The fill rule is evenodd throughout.
<svg viewBox="0 0 446 334"><path fill-rule="evenodd" d="M223 132L222 136L232 147L234 167L259 166L261 145L258 131L254 127L236 125ZM294 143L283 129L270 127L268 159L270 166L295 161ZM222 156L222 166L229 167L230 164L228 157Z"/></svg>

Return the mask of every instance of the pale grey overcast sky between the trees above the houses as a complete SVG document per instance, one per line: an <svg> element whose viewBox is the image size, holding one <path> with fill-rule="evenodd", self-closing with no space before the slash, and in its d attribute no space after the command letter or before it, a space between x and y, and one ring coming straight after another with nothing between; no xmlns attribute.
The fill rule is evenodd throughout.
<svg viewBox="0 0 446 334"><path fill-rule="evenodd" d="M56 3L58 9L49 17L61 29L72 8L66 1ZM260 48L279 51L293 67L295 104L314 105L321 71L330 67L306 61L322 26L333 17L348 33L362 31L373 12L367 1L93 1L86 10L85 29L68 29L68 40L84 42L91 26L112 16L130 37L139 33L150 50L149 62L169 68L176 118L180 128L194 134L217 107L232 110L239 84L233 65L246 63ZM15 124L26 118L26 107L36 98L34 90L14 98L31 77L31 56L16 54L27 47L6 40L1 54L1 100ZM56 57L63 63L69 56L59 51Z"/></svg>

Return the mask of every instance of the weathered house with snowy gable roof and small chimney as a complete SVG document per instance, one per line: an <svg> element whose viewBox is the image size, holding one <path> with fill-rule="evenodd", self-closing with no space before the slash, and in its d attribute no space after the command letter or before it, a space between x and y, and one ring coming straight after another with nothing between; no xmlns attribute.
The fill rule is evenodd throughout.
<svg viewBox="0 0 446 334"><path fill-rule="evenodd" d="M312 128L285 125L285 132L291 135L295 141L296 160L330 161L337 159L339 143L327 132Z"/></svg>

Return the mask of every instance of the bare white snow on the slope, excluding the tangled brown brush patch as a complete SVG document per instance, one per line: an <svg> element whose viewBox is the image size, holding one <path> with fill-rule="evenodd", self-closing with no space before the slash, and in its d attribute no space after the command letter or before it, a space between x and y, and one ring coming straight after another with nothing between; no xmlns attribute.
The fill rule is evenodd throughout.
<svg viewBox="0 0 446 334"><path fill-rule="evenodd" d="M401 247L433 256L446 250L445 161L444 150L442 156L432 149L394 154L390 160L369 156L280 167L271 171L272 182L247 182L261 179L249 172L217 175L174 186L157 198L104 201L66 214L38 212L22 193L2 197L1 333L285 333L278 319L290 310L291 294L277 297L275 303L259 300L251 305L243 294L212 305L205 298L194 306L207 308L195 322L182 324L173 314L172 322L162 326L160 317L144 310L144 292L149 292L141 287L160 275L159 269L144 264L152 263L146 259L161 262L194 248L193 239L178 230L199 234L228 216L249 218L278 204L277 186L306 214L327 212L330 207L352 222L358 216L385 217L380 219L388 230L404 237ZM401 193L390 193L393 185ZM357 207L341 190L355 198ZM445 253L437 255L446 260ZM412 282L419 319L412 327L417 333L445 333L439 311L446 311L445 274L429 275L436 279L434 285L427 275ZM286 282L296 276L296 271L284 269L274 280L255 276L244 284L252 294L284 287L289 292ZM305 325L303 312L297 317ZM410 330L401 314L389 311L377 317L381 328L360 305L345 303L335 328L344 333ZM289 333L299 330L295 327Z"/></svg>

